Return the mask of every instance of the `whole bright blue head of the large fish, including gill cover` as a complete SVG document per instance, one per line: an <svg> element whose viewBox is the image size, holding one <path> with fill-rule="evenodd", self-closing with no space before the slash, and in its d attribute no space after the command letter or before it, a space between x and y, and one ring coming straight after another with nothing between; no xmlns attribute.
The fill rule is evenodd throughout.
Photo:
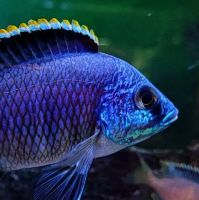
<svg viewBox="0 0 199 200"><path fill-rule="evenodd" d="M123 66L100 117L106 137L130 146L167 128L177 120L178 109L138 70Z"/></svg>

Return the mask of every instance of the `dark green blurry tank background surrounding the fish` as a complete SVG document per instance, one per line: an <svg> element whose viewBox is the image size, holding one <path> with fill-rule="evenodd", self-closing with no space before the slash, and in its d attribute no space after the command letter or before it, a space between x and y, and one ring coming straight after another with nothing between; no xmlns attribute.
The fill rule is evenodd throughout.
<svg viewBox="0 0 199 200"><path fill-rule="evenodd" d="M56 17L76 19L94 29L100 51L136 66L180 111L177 122L139 146L172 150L161 156L197 163L198 10L197 0L0 0L0 28ZM96 160L83 199L150 199L149 188L136 188L123 179L137 162L130 150ZM34 174L3 174L0 199L30 199L30 173ZM140 196L134 197L137 191Z"/></svg>

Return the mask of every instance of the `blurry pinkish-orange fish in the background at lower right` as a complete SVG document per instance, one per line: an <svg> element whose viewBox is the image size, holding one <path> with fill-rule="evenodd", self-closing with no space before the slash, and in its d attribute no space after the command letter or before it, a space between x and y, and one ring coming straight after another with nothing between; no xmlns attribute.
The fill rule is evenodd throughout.
<svg viewBox="0 0 199 200"><path fill-rule="evenodd" d="M152 187L162 200L199 200L199 169L190 165L161 162L156 175L140 158L142 169L134 174L136 183Z"/></svg>

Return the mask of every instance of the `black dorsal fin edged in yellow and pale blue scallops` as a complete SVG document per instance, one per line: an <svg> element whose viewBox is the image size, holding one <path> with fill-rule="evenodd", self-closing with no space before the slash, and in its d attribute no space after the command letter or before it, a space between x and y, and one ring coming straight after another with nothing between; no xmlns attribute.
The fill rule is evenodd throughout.
<svg viewBox="0 0 199 200"><path fill-rule="evenodd" d="M76 20L29 20L19 27L0 29L0 69L26 61L65 53L98 52L93 30Z"/></svg>

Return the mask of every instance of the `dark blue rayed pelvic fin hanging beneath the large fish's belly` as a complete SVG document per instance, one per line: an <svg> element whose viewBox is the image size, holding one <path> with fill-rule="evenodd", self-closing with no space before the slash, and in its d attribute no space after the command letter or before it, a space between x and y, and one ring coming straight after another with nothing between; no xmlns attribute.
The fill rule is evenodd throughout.
<svg viewBox="0 0 199 200"><path fill-rule="evenodd" d="M35 186L33 198L35 200L80 199L90 164L81 171L78 164L43 174Z"/></svg>

